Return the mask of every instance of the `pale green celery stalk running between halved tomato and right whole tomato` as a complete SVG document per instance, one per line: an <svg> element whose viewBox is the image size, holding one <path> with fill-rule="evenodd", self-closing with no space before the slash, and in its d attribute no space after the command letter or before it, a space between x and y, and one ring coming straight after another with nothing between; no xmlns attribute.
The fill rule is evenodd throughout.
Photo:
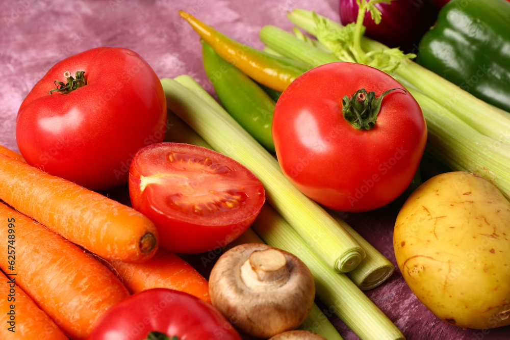
<svg viewBox="0 0 510 340"><path fill-rule="evenodd" d="M163 79L161 83L168 108L216 151L250 169L261 180L267 201L308 240L331 268L348 272L360 264L365 251L359 243L319 204L292 185L274 157L249 136L207 91L189 76Z"/></svg>

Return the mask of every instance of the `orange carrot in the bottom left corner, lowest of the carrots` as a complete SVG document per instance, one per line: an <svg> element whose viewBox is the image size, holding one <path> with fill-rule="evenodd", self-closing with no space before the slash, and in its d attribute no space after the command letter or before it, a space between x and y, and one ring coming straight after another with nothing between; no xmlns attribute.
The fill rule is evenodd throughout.
<svg viewBox="0 0 510 340"><path fill-rule="evenodd" d="M16 284L0 273L0 338L2 340L68 340L55 322Z"/></svg>

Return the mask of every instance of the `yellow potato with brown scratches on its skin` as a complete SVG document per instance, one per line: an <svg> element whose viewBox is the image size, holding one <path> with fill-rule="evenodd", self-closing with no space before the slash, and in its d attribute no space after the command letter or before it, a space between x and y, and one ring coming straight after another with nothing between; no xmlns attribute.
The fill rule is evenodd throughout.
<svg viewBox="0 0 510 340"><path fill-rule="evenodd" d="M510 203L488 180L454 171L430 178L402 206L393 234L398 268L441 320L510 324Z"/></svg>

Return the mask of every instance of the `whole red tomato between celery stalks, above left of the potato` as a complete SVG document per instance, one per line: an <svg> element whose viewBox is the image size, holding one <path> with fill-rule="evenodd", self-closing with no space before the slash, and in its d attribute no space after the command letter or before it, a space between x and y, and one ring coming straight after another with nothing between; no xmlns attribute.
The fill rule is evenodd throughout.
<svg viewBox="0 0 510 340"><path fill-rule="evenodd" d="M374 128L342 116L342 98L359 89L376 96L402 85L370 66L337 62L296 79L278 99L272 134L278 162L305 195L336 211L364 212L390 203L411 183L427 138L414 97L394 90Z"/></svg>

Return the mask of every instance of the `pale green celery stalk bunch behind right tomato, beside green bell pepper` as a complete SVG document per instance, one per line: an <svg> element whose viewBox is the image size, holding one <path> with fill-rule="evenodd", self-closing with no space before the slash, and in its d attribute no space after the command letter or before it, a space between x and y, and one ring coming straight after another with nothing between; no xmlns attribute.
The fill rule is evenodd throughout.
<svg viewBox="0 0 510 340"><path fill-rule="evenodd" d="M329 40L343 32L342 25L313 12L293 10L289 18L312 35L329 28ZM313 46L273 26L264 27L260 36L277 53L314 66L329 63L335 57L333 52L324 51L325 44ZM388 50L366 37L361 37L360 41L361 47L373 55ZM330 45L342 50L342 44ZM336 55L336 61L344 60L339 51ZM391 74L416 98L423 110L428 129L427 150L453 170L475 172L491 180L510 198L510 113L476 98L415 62L399 58L390 55L386 60L398 64L390 67L394 69ZM384 60L379 59L380 62Z"/></svg>

